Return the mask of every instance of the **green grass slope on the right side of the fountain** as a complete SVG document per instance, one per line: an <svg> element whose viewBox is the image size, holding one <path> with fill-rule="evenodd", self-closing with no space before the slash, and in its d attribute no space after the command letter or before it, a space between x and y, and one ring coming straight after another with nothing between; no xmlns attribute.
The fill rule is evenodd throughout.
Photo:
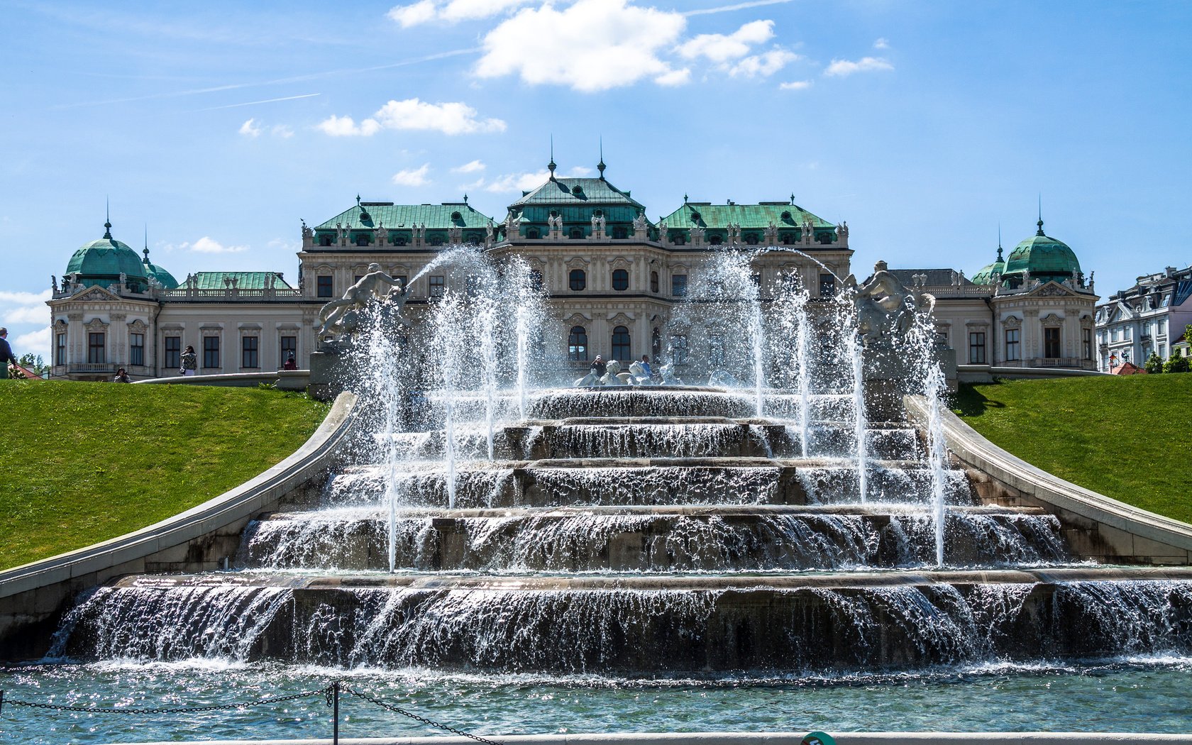
<svg viewBox="0 0 1192 745"><path fill-rule="evenodd" d="M1192 373L964 385L952 410L1044 471L1192 522Z"/></svg>

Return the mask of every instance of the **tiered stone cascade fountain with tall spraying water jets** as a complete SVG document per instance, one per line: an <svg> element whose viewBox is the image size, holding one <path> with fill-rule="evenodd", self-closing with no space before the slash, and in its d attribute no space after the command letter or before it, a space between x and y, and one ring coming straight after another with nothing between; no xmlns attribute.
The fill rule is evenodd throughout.
<svg viewBox="0 0 1192 745"><path fill-rule="evenodd" d="M519 715L753 730L769 714L726 712L768 690L859 681L868 702L896 702L908 681L980 687L1006 665L1085 675L1168 654L1186 669L1192 583L1107 578L1055 516L974 497L939 434L927 309L896 280L812 300L797 281L755 283L749 254L721 259L669 325L708 350L666 360L700 385L569 387L540 353L551 327L528 268L443 252L435 266L462 286L417 323L377 313L355 347L375 447L318 504L253 521L232 571L131 576L82 598L51 657L191 665L191 681L218 663L254 684L236 666L262 664L296 689L331 669L473 721L502 709L498 732L545 731ZM887 384L927 398L923 439L874 405ZM712 699L647 716L631 701L642 685ZM558 700L534 708L526 690ZM1063 716L1079 721L1042 721Z"/></svg>

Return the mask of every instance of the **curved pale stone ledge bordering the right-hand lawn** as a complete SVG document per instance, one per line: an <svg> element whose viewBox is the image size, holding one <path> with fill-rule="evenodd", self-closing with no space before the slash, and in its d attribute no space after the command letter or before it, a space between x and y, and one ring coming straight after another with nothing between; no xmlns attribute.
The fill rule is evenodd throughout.
<svg viewBox="0 0 1192 745"><path fill-rule="evenodd" d="M907 414L926 421L926 402L906 397ZM1064 527L1091 530L1105 553L1086 558L1132 564L1188 564L1192 524L1138 509L1032 466L982 437L948 409L940 411L948 447L962 462L998 482L1011 495L1056 514Z"/></svg>

